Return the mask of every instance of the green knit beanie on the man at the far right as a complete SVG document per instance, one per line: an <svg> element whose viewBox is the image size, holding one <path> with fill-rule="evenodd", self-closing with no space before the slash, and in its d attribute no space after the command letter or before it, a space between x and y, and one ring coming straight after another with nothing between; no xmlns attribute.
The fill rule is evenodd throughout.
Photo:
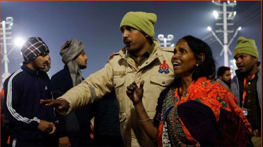
<svg viewBox="0 0 263 147"><path fill-rule="evenodd" d="M238 54L248 54L258 58L258 49L253 39L239 37L234 50L234 57Z"/></svg>

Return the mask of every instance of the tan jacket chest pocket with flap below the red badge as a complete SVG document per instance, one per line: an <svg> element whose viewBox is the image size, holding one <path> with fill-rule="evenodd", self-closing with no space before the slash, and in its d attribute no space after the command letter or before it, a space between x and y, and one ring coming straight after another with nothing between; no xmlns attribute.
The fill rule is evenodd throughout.
<svg viewBox="0 0 263 147"><path fill-rule="evenodd" d="M152 96L150 96L150 99L157 102L157 99L162 90L169 86L173 82L173 80L173 76L151 74L150 84Z"/></svg>

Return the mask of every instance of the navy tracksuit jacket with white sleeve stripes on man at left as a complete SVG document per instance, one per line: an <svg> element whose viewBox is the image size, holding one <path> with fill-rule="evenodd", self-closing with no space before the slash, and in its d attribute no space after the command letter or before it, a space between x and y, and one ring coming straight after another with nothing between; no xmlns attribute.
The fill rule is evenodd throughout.
<svg viewBox="0 0 263 147"><path fill-rule="evenodd" d="M40 120L56 121L54 108L40 104L51 99L50 79L43 71L33 71L24 64L4 83L3 113L10 121L10 136L18 140L40 140L46 134L38 130Z"/></svg>

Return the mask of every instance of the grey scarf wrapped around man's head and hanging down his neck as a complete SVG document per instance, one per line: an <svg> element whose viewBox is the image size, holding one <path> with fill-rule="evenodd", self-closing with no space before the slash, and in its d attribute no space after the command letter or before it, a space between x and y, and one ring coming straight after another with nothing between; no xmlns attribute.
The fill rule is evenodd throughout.
<svg viewBox="0 0 263 147"><path fill-rule="evenodd" d="M60 49L60 55L62 56L62 62L68 65L70 76L73 82L73 87L82 82L82 75L78 63L73 59L81 53L85 48L84 44L76 39L66 41Z"/></svg>

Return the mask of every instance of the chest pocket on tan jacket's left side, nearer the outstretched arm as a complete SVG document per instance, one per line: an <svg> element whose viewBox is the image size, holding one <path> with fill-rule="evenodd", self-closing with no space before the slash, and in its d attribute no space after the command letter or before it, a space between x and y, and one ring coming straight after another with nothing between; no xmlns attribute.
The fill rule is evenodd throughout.
<svg viewBox="0 0 263 147"><path fill-rule="evenodd" d="M113 77L113 86L115 88L116 97L119 102L123 100L124 96L126 95L124 82L125 78L120 78L117 76Z"/></svg>

